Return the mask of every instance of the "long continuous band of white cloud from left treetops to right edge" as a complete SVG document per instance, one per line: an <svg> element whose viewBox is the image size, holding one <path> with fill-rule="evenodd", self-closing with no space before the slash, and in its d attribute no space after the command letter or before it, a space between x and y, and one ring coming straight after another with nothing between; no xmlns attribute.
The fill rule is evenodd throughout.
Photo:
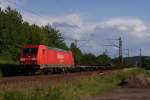
<svg viewBox="0 0 150 100"><path fill-rule="evenodd" d="M61 30L66 36L74 39L87 38L90 34L95 33L95 30L100 30L100 32L109 30L126 33L129 36L140 39L150 36L150 27L144 21L136 17L112 18L94 24L85 21L84 16L79 14L51 17L37 16L29 12L24 12L23 18L32 24L51 24L53 27Z"/></svg>

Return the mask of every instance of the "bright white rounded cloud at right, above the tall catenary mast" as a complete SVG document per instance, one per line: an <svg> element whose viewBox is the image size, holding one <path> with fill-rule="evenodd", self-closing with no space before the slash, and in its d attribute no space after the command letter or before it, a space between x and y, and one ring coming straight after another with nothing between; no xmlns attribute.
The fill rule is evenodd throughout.
<svg viewBox="0 0 150 100"><path fill-rule="evenodd" d="M138 38L144 38L149 35L147 33L147 31L149 31L148 25L138 18L112 18L99 23L99 25L96 26L96 29L126 32L129 35L133 35Z"/></svg>

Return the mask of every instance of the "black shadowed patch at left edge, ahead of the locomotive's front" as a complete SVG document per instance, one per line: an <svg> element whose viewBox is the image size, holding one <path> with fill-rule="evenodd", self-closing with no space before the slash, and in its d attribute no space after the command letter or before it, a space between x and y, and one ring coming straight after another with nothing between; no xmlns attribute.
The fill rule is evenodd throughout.
<svg viewBox="0 0 150 100"><path fill-rule="evenodd" d="M0 75L7 76L22 76L25 72L17 64L0 64Z"/></svg>

